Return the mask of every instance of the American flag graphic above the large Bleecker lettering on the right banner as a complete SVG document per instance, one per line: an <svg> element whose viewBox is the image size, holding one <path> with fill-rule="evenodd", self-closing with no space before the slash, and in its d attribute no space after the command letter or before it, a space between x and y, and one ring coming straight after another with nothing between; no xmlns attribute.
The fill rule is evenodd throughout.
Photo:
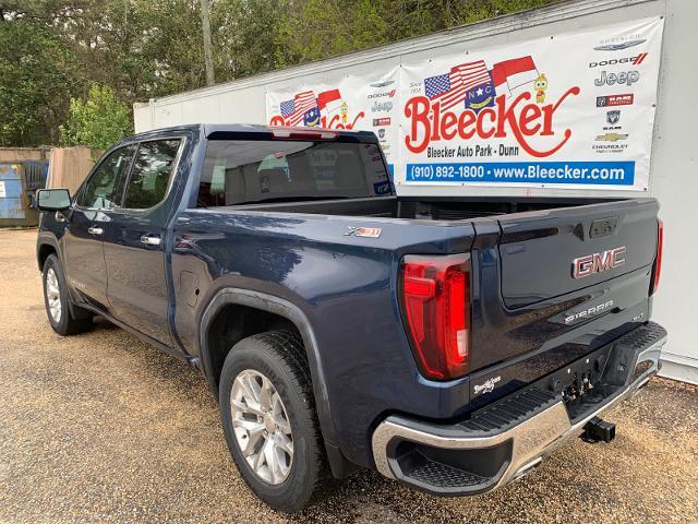
<svg viewBox="0 0 698 524"><path fill-rule="evenodd" d="M469 90L489 81L488 67L479 60L455 66L446 74L424 79L424 92L431 100L441 102L442 109L448 109L460 104Z"/></svg>

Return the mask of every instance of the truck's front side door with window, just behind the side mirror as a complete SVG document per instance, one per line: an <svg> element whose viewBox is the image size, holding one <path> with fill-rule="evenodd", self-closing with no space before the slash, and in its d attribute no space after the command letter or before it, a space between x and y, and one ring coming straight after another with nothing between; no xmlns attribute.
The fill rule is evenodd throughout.
<svg viewBox="0 0 698 524"><path fill-rule="evenodd" d="M135 146L107 155L83 184L63 236L65 275L74 296L108 312L103 238L110 210L119 205Z"/></svg>

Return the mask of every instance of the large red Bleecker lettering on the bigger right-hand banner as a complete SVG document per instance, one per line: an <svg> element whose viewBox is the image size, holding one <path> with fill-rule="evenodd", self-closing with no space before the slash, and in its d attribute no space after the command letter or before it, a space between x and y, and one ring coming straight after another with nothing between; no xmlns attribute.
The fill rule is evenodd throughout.
<svg viewBox="0 0 698 524"><path fill-rule="evenodd" d="M578 95L579 87L570 87L557 102L539 106L527 104L531 94L526 92L507 103L505 95L495 98L494 107L486 107L480 112L466 109L460 115L441 110L441 103L431 103L425 96L416 96L405 104L405 116L410 120L409 134L405 145L412 153L421 153L431 142L453 140L504 139L509 133L529 155L535 157L550 156L559 150L571 136L566 129L563 139L550 150L535 150L527 141L528 136L554 136L553 116L561 104L569 95Z"/></svg>

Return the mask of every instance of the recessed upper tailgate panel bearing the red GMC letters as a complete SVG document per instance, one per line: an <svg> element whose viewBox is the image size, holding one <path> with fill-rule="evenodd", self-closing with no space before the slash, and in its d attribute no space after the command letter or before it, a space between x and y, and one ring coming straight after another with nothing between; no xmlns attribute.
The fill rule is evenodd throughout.
<svg viewBox="0 0 698 524"><path fill-rule="evenodd" d="M658 211L655 200L637 199L502 218L505 306L530 306L652 264Z"/></svg>

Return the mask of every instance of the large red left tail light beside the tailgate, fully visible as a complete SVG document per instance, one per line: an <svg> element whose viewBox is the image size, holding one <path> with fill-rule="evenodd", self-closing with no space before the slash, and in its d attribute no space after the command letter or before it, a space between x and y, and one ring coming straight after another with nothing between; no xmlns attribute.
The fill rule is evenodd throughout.
<svg viewBox="0 0 698 524"><path fill-rule="evenodd" d="M402 315L422 374L449 380L468 372L470 354L468 254L402 260Z"/></svg>

